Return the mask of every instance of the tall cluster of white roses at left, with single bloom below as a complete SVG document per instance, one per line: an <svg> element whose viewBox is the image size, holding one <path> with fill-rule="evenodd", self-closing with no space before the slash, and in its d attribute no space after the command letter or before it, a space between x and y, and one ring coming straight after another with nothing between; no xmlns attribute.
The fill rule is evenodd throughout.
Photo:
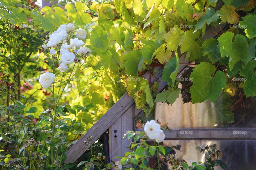
<svg viewBox="0 0 256 170"><path fill-rule="evenodd" d="M45 40L46 45L42 45L42 48L45 51L50 49L49 52L52 56L55 56L55 52L59 51L61 56L59 60L60 65L57 70L61 71L62 73L69 68L69 64L75 61L76 55L79 56L78 54L80 54L81 56L87 56L87 53L91 53L91 49L83 46L85 43L80 40L86 39L87 31L81 28L77 29L75 34L76 37L73 39L74 30L74 24L62 24L49 36L49 40ZM46 88L51 86L54 79L55 75L53 73L43 73L40 75L39 82L43 88Z"/></svg>

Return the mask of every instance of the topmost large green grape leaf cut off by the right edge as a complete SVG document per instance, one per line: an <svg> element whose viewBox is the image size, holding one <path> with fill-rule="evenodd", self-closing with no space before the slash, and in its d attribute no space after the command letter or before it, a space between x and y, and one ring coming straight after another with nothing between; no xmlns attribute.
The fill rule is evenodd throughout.
<svg viewBox="0 0 256 170"><path fill-rule="evenodd" d="M245 29L245 34L249 39L256 37L256 15L246 15L239 22L239 28Z"/></svg>

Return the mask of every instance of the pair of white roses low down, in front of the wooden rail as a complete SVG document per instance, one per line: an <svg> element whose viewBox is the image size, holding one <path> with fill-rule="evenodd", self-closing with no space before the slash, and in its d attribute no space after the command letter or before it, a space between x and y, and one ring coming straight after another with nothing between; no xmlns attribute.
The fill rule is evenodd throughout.
<svg viewBox="0 0 256 170"><path fill-rule="evenodd" d="M147 121L144 126L144 131L150 139L155 140L158 143L165 140L165 134L163 133L160 125L156 123L155 120Z"/></svg>

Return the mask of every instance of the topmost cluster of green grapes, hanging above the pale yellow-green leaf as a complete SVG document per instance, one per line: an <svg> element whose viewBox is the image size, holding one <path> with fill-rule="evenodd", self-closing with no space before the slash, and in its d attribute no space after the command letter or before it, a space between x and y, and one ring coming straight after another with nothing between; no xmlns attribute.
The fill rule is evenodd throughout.
<svg viewBox="0 0 256 170"><path fill-rule="evenodd" d="M185 24L185 20L177 12L165 14L165 27L172 28L174 25L180 26L181 24Z"/></svg>

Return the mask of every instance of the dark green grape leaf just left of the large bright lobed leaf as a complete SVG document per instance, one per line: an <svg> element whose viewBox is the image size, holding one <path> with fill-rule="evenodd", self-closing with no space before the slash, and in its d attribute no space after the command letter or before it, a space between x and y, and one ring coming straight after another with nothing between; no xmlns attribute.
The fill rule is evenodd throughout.
<svg viewBox="0 0 256 170"><path fill-rule="evenodd" d="M214 38L207 39L203 42L201 47L203 49L203 55L207 55L212 63L221 59L221 52L218 46L218 40Z"/></svg>

